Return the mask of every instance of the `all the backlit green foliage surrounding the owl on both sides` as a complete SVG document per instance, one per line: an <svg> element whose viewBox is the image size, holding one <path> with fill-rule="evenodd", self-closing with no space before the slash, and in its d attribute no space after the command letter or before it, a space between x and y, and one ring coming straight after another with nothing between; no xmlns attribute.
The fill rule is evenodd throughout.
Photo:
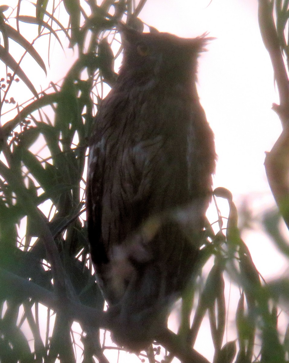
<svg viewBox="0 0 289 363"><path fill-rule="evenodd" d="M22 0L15 9L0 6L1 70L6 67L6 76L0 80L1 363L57 359L87 363L94 361L93 356L99 362L108 362L104 351L112 350L112 344L104 340L103 329L109 329L109 325L89 261L83 175L97 105L117 76L114 59L121 53L117 21L122 19L142 29L137 16L145 2L140 0L136 5L133 0L103 0L97 5L94 0L37 0L30 4L35 15L23 10ZM273 2L259 3L271 16L269 25L277 34L277 52L282 58L282 50L288 60L285 30L288 32L289 1L274 2L277 30L272 17ZM259 20L264 20L264 35L268 21L264 12L260 11L259 16ZM33 32L33 41L26 39L23 23L28 24L30 34ZM40 38L48 39L44 59L36 50ZM22 50L20 58L19 54L14 56L11 41ZM51 83L38 93L35 79L27 76L29 72L25 72L21 62L31 56L33 65L46 72L54 57L52 41L64 51L73 48L77 55L62 81ZM277 76L280 73L276 74L279 87L278 80L287 75ZM288 85L288 79L284 80ZM15 87L20 83L32 98L27 95L25 102L18 104ZM288 94L284 99L288 102ZM12 111L7 113L8 110ZM288 115L289 107L279 111L281 116ZM284 124L287 121L286 116ZM223 199L230 210L225 217L217 207ZM278 197L276 200L278 203ZM155 344L140 358L150 363L160 359L170 362L173 356L182 362L208 362L192 347L204 317L209 317L214 362L288 361L289 329L281 339L280 309L276 307L280 299L288 303L288 279L266 284L260 278L241 238L231 193L224 188L215 189L214 203L216 220L206 226L207 238L194 283L180 303L179 332L160 331ZM285 221L287 205L284 202L280 208ZM289 256L279 221L279 215L267 213L264 226L278 248ZM144 228L157 228L153 222L148 221ZM208 274L204 273L205 265L206 271L211 266ZM238 339L229 342L225 334L228 321L224 279L228 275L240 289L236 306ZM110 360L117 360L117 355L114 357Z"/></svg>

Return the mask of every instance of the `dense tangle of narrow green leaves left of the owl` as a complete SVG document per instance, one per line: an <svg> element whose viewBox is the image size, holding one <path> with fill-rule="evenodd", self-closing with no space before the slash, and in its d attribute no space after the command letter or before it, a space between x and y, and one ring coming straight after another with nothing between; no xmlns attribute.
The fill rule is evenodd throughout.
<svg viewBox="0 0 289 363"><path fill-rule="evenodd" d="M127 12L123 2L122 13L120 4L116 4L118 15L110 15L108 10L112 3L104 1L98 6L94 1L37 1L32 3L35 16L22 15L21 0L8 17L4 13L11 8L8 5L0 8L0 31L4 40L4 46L0 46L0 60L11 72L7 71L7 85L1 86L0 108L9 99L11 84L19 81L17 76L34 95L28 105L17 103L16 117L1 127L0 268L3 273L9 271L13 276L21 277L22 283L29 280L30 284L45 289L46 294L57 289L61 284L53 271L53 258L49 258L47 245L43 242L45 229L53 238L66 281L70 281L70 291L80 303L99 311L104 308L104 300L88 261L86 224L82 215L85 158L95 104L101 99L98 92L102 92L102 73L110 79L115 77L114 56L112 51L108 52L106 37L118 18ZM63 5L68 24L61 23L56 17L58 8ZM9 24L13 15L15 27ZM20 32L21 22L34 25L32 43ZM78 50L79 57L59 85L51 84L49 89L38 94L32 80L22 70L21 60L29 53L46 73L45 62L33 44L40 37L54 36L64 48L63 34L70 46ZM10 53L11 40L24 49L18 62ZM1 79L3 85L4 81ZM14 98L8 102L14 104ZM1 279L1 362L38 362L42 359L54 362L57 357L63 362L75 360L71 318L64 313L57 314L51 332L50 306L46 326L43 326L39 322L43 310L39 302L45 304L43 299L28 297L25 291L12 286L11 280ZM32 350L22 332L25 324L33 335ZM43 330L46 331L44 339ZM95 351L102 353L95 329L91 332L95 342L89 338L89 329L85 331L84 361L88 362Z"/></svg>

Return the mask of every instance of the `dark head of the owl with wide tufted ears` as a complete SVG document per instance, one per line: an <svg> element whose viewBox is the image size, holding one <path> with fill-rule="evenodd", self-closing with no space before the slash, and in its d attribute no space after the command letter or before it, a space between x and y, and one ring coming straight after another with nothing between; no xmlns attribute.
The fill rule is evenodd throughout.
<svg viewBox="0 0 289 363"><path fill-rule="evenodd" d="M196 79L197 58L213 38L203 34L197 38L180 38L169 33L141 33L127 25L119 26L123 61L120 75L144 79Z"/></svg>

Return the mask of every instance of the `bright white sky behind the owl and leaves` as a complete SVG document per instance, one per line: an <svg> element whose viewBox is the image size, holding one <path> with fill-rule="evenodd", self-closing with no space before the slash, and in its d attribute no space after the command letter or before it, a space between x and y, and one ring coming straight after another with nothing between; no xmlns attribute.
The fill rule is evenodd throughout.
<svg viewBox="0 0 289 363"><path fill-rule="evenodd" d="M0 5L10 2L17 3L0 0ZM281 126L271 110L278 97L257 23L257 0L209 2L148 0L139 17L160 31L183 37L209 32L217 38L200 57L198 76L201 103L215 133L218 164L214 186L230 189L239 205L246 198L253 215L260 217L274 205L263 163L265 151L271 150ZM65 56L57 51L51 58L47 78L31 68L37 90L40 83L44 89L51 79L56 82L62 78L72 61L72 53ZM250 232L243 237L264 277L269 279L286 270L287 261L264 233ZM232 301L235 304L234 298ZM200 341L204 341L206 331L202 334ZM202 354L211 358L207 347L197 345Z"/></svg>

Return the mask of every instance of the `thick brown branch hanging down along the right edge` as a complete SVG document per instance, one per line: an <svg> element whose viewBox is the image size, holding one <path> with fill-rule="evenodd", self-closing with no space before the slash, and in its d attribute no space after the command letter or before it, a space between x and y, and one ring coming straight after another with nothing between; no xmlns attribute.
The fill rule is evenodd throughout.
<svg viewBox="0 0 289 363"><path fill-rule="evenodd" d="M266 154L264 165L272 194L289 228L289 81L273 19L273 3L259 0L258 18L280 99L280 105L273 104L272 109L278 114L283 130L272 150Z"/></svg>

